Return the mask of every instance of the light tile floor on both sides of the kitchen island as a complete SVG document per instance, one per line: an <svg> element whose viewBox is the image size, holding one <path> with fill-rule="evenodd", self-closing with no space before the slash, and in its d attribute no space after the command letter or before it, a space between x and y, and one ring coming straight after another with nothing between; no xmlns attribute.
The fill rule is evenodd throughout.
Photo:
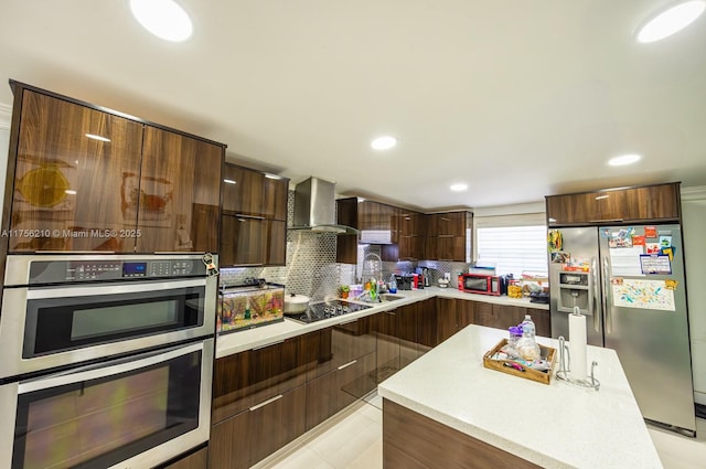
<svg viewBox="0 0 706 469"><path fill-rule="evenodd" d="M648 426L664 469L706 468L706 420L697 438ZM256 469L378 469L383 467L382 398L371 394L276 454Z"/></svg>

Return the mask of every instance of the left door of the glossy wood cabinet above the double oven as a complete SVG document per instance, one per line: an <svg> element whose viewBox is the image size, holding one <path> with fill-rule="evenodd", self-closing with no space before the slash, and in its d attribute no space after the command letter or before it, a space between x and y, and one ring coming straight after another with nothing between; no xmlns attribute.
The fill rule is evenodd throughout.
<svg viewBox="0 0 706 469"><path fill-rule="evenodd" d="M124 181L140 173L143 126L22 88L14 113L3 227L18 235L9 252L133 252L135 237L103 235L137 228Z"/></svg>

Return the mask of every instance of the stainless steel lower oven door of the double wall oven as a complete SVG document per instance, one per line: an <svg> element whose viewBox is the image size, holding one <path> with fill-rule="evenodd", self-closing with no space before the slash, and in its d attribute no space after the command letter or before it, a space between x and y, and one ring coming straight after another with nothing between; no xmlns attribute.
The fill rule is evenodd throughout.
<svg viewBox="0 0 706 469"><path fill-rule="evenodd" d="M0 385L0 467L147 468L208 439L214 339Z"/></svg>

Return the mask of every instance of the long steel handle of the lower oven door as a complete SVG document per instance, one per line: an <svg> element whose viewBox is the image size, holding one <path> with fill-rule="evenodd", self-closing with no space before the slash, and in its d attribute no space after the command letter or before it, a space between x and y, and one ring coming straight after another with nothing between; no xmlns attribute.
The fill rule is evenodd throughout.
<svg viewBox="0 0 706 469"><path fill-rule="evenodd" d="M90 365L85 365L64 372L50 374L46 376L31 379L20 382L18 386L18 394L26 394L34 391L79 383L82 381L90 381L100 377L113 376L116 374L139 370L141 367L156 365L175 359L178 356L185 355L188 353L204 350L205 342L206 341L201 341L189 345L176 345L156 352L153 351L141 353L139 355L127 356L124 359L111 360L108 362L94 363Z"/></svg>

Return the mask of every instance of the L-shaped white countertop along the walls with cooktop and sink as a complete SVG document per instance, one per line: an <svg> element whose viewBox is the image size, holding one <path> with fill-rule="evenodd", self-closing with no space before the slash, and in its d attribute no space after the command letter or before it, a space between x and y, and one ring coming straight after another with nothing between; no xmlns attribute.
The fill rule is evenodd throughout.
<svg viewBox="0 0 706 469"><path fill-rule="evenodd" d="M549 309L548 305L531 303L528 298L514 299L504 296L494 297L488 295L467 294L454 288L430 287L422 290L397 290L395 295L405 298L383 303L370 303L371 306L375 306L363 311L351 312L344 316L317 321L311 324L302 324L300 322L296 322L291 319L285 318L285 320L281 322L265 324L244 331L220 334L216 338L216 359L221 359L223 356L232 355L234 353L243 352L245 350L254 349L257 347L267 345L269 343L276 343L285 339L301 335L307 332L313 332L319 329L335 326L341 322L346 322L365 316L375 315L381 311L387 311L404 305L409 305L434 297L466 299L546 310Z"/></svg>

